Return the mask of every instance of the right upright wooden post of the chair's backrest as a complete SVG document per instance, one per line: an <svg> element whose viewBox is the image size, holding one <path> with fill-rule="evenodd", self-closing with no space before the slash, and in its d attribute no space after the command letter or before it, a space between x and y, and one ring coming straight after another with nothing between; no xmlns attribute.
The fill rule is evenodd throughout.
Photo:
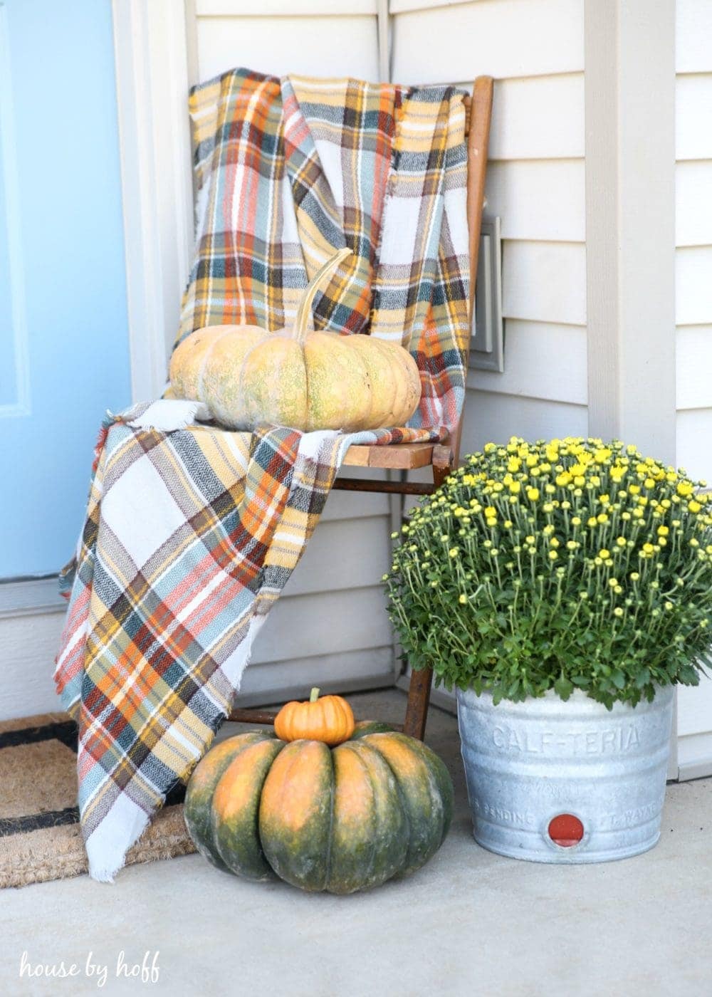
<svg viewBox="0 0 712 997"><path fill-rule="evenodd" d="M473 87L473 96L471 98L466 98L465 100L466 112L468 115L466 134L468 137L468 231L470 235L471 335L475 318L475 284L477 281L478 256L480 254L482 211L485 203L485 174L487 171L487 151L490 142L493 92L493 78L491 76L479 76ZM463 412L460 415L460 421L457 429L451 434L451 439L449 441L455 458L454 463L456 465L460 457L460 440L462 437L463 419L464 407Z"/></svg>

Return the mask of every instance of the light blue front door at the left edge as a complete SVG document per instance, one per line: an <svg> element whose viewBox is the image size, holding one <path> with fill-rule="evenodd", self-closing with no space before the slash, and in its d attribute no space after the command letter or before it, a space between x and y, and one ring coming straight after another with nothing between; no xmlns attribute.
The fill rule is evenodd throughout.
<svg viewBox="0 0 712 997"><path fill-rule="evenodd" d="M0 578L72 554L130 402L110 0L0 0Z"/></svg>

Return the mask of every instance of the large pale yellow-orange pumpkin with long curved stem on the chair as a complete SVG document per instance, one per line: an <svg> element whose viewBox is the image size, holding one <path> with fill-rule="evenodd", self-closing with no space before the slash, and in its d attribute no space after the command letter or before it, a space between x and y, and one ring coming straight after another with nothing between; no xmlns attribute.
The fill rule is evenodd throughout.
<svg viewBox="0 0 712 997"><path fill-rule="evenodd" d="M205 402L236 430L260 423L347 432L404 426L421 395L410 353L371 336L308 329L319 285L350 255L341 249L316 272L291 329L216 325L186 336L171 360L173 394Z"/></svg>

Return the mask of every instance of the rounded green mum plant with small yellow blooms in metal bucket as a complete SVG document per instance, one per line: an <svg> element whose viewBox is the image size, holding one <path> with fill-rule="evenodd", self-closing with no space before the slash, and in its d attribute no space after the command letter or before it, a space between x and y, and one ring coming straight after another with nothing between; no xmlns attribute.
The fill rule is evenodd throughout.
<svg viewBox="0 0 712 997"><path fill-rule="evenodd" d="M702 487L619 441L487 444L402 528L384 580L404 653L496 702L578 688L610 708L697 685L712 619Z"/></svg>

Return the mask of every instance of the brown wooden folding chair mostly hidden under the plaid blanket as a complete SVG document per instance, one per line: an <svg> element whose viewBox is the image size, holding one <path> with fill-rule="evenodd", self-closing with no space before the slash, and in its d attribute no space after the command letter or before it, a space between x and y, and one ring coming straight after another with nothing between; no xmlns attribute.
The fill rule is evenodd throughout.
<svg viewBox="0 0 712 997"><path fill-rule="evenodd" d="M478 77L475 81L472 98L466 98L468 122L466 134L468 137L468 230L470 236L470 268L472 280L470 284L470 316L472 328L473 308L475 306L475 281L480 249L480 227L485 198L485 173L487 169L487 151L490 139L490 121L492 118L493 79L489 76ZM396 495L431 495L440 488L453 468L457 467L460 458L460 439L462 435L463 416L451 433L450 438L443 443L404 443L392 444L390 447L351 447L344 459L343 465L351 468L379 468L388 471L413 471L417 468L433 469L432 484L418 484L406 481L371 481L362 478L337 478L333 488L348 492L379 492ZM430 669L414 671L411 675L408 692L408 706L403 730L411 737L423 740L425 725L430 704L430 690L433 684L433 672ZM271 724L274 713L263 710L233 710L229 720L239 723Z"/></svg>

